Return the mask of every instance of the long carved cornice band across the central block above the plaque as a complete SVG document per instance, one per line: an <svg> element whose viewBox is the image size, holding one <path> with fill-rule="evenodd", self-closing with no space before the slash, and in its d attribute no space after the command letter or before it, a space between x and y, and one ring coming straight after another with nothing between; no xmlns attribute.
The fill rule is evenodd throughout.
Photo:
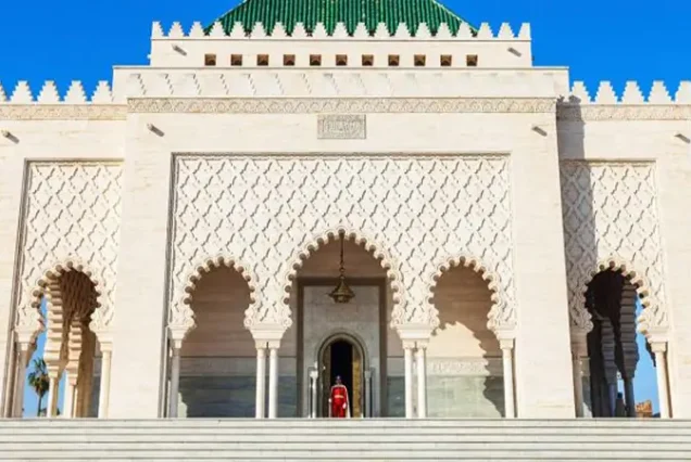
<svg viewBox="0 0 691 462"><path fill-rule="evenodd" d="M549 98L142 98L127 101L130 113L176 114L353 114L353 113L554 113Z"/></svg>

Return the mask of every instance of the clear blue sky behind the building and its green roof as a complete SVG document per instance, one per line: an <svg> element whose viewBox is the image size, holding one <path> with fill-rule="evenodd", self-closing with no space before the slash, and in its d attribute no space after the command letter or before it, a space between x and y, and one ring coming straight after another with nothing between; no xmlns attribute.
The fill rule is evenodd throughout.
<svg viewBox="0 0 691 462"><path fill-rule="evenodd" d="M290 0L287 0L290 1ZM61 94L81 80L90 94L99 80L111 79L113 65L146 64L151 22L169 27L180 21L210 23L237 1L71 0L5 2L0 16L0 82L11 93L17 80L29 80L38 93L45 80L55 80ZM445 4L474 25L502 22L515 30L532 25L536 65L570 67L571 80L585 80L594 95L600 80L611 80L618 93L637 80L648 93L653 80L664 80L670 93L691 79L691 2L658 0L450 0ZM637 377L639 400L654 393L654 372L641 354ZM645 362L648 361L648 362ZM648 367L645 365L648 364ZM30 398L29 398L30 397ZM27 390L27 413L35 399Z"/></svg>

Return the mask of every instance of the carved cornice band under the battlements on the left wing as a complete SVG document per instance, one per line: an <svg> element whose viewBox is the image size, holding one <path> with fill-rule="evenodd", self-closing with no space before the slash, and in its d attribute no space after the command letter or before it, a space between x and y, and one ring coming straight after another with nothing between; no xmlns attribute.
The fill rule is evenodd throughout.
<svg viewBox="0 0 691 462"><path fill-rule="evenodd" d="M0 104L0 120L124 120L124 104Z"/></svg>

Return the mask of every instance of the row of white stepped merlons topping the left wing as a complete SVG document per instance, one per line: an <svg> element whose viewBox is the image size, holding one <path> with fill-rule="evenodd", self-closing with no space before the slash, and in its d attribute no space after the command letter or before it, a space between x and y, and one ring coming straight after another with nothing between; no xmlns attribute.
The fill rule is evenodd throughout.
<svg viewBox="0 0 691 462"><path fill-rule="evenodd" d="M111 104L113 103L113 92L108 81L98 84L91 99L87 98L84 85L80 81L73 81L67 92L61 98L55 82L48 80L43 84L37 95L33 92L27 81L20 81L11 95L8 97L2 86L0 86L0 104Z"/></svg>

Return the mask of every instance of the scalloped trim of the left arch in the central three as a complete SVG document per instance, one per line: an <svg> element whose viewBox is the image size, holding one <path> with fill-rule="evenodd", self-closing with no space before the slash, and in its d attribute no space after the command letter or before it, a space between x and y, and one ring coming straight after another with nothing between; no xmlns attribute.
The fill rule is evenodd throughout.
<svg viewBox="0 0 691 462"><path fill-rule="evenodd" d="M169 329L181 331L183 336L186 336L194 329L194 311L191 308L194 288L205 273L211 272L214 268L222 267L236 270L247 282L250 292L250 306L244 312L244 325L249 328L248 319L254 319L259 312L261 291L256 290L257 279L252 273L251 267L244 265L239 258L233 255L218 254L199 260L197 265L192 266L192 269L184 279L185 284L171 307L168 317Z"/></svg>

